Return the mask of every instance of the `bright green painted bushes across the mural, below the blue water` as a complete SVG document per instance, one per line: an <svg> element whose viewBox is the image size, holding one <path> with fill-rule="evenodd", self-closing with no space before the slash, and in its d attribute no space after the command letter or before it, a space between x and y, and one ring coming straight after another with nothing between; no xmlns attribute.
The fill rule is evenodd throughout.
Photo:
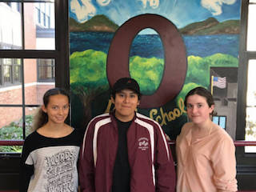
<svg viewBox="0 0 256 192"><path fill-rule="evenodd" d="M106 53L96 50L74 52L70 55L70 86L85 86L94 89L107 86ZM238 67L238 58L229 54L213 54L205 58L190 55L185 84L210 85L210 66ZM164 60L162 58L130 58L130 75L138 80L143 94L153 94L162 79Z"/></svg>

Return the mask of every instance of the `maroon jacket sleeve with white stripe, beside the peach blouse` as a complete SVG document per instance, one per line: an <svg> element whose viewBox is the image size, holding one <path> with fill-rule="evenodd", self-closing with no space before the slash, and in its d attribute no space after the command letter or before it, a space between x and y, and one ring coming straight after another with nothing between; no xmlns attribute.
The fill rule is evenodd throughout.
<svg viewBox="0 0 256 192"><path fill-rule="evenodd" d="M166 142L165 135L159 125L156 129L156 136L156 191L174 192L176 183L174 161L170 152L170 147Z"/></svg>

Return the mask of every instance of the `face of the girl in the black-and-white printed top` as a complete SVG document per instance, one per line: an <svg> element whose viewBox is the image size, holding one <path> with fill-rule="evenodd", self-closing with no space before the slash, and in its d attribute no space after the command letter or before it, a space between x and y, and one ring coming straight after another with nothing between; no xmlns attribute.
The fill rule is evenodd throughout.
<svg viewBox="0 0 256 192"><path fill-rule="evenodd" d="M42 110L48 115L48 122L64 123L70 110L69 99L63 94L52 95Z"/></svg>

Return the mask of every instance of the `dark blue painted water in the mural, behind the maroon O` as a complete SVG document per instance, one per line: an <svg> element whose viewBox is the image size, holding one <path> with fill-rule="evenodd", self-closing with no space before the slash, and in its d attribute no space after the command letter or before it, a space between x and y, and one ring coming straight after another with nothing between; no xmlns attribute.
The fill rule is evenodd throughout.
<svg viewBox="0 0 256 192"><path fill-rule="evenodd" d="M100 50L108 53L113 33L70 32L70 54L74 51ZM186 46L186 55L207 57L212 54L230 54L238 58L238 34L214 34L182 36ZM139 34L134 38L130 56L142 58L164 58L162 41L158 34Z"/></svg>

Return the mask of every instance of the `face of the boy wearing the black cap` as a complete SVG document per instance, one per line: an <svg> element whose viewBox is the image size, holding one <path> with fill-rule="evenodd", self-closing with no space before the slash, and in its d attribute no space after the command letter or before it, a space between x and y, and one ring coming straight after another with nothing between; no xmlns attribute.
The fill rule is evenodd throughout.
<svg viewBox="0 0 256 192"><path fill-rule="evenodd" d="M121 90L115 94L114 103L115 117L122 122L129 122L134 118L134 111L139 105L138 94L134 90Z"/></svg>

